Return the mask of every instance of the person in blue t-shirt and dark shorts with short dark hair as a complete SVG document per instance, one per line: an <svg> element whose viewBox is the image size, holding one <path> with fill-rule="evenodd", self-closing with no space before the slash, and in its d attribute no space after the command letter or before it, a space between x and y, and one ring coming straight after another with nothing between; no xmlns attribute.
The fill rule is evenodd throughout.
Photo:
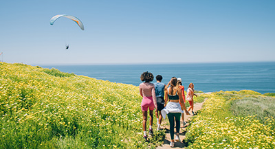
<svg viewBox="0 0 275 149"><path fill-rule="evenodd" d="M157 75L155 77L157 82L155 85L155 97L157 98L157 109L155 110L155 116L157 117L157 131L160 129L160 125L162 124L162 109L164 108L164 87L165 84L162 83L162 76Z"/></svg>

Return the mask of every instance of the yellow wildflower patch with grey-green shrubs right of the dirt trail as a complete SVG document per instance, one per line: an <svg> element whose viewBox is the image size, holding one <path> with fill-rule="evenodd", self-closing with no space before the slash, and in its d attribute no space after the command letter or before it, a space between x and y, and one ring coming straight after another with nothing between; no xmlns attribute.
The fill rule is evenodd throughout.
<svg viewBox="0 0 275 149"><path fill-rule="evenodd" d="M275 148L275 98L245 90L203 96L188 126L188 148Z"/></svg>

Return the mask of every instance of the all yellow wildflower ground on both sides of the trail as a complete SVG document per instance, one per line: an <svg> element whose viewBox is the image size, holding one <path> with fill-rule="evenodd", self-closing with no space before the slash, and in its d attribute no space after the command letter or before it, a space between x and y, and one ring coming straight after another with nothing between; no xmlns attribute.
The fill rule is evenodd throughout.
<svg viewBox="0 0 275 149"><path fill-rule="evenodd" d="M201 93L195 102L206 98L187 148L275 148L274 93ZM155 148L165 134L143 141L141 101L130 84L0 62L0 148Z"/></svg>

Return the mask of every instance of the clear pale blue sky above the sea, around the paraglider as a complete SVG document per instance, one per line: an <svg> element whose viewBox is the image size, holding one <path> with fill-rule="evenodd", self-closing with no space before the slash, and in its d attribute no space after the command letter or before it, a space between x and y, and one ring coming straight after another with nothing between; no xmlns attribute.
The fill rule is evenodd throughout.
<svg viewBox="0 0 275 149"><path fill-rule="evenodd" d="M56 14L83 21L85 30ZM275 1L1 1L4 62L255 62L275 58ZM69 50L65 49L69 44Z"/></svg>

